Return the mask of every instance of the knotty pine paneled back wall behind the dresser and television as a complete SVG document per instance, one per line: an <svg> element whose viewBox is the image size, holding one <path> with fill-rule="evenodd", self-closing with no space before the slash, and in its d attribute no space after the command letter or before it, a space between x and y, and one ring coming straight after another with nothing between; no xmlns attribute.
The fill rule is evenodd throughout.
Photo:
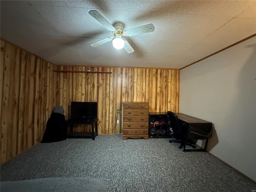
<svg viewBox="0 0 256 192"><path fill-rule="evenodd" d="M64 66L57 68L62 71ZM69 72L54 74L59 78L59 98L66 116L70 118L71 101L98 102L99 134L122 133L121 113L117 114L117 109L122 112L122 102L149 102L150 112L178 112L179 70L91 66L65 66L65 70ZM87 70L112 73L86 73ZM90 126L76 125L74 130L90 131Z"/></svg>

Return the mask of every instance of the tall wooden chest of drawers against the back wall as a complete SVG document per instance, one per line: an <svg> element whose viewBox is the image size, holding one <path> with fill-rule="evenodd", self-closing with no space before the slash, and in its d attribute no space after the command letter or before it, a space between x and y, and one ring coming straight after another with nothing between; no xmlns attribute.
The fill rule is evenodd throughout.
<svg viewBox="0 0 256 192"><path fill-rule="evenodd" d="M146 102L123 102L123 139L148 139L148 109Z"/></svg>

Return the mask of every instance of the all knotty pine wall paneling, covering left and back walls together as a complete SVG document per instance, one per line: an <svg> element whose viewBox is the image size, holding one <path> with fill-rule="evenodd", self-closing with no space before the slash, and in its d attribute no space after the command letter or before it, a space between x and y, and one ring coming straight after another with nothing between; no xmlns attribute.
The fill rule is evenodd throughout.
<svg viewBox="0 0 256 192"><path fill-rule="evenodd" d="M98 102L99 134L122 133L122 102L149 102L150 112L178 112L179 70L56 66L3 40L0 67L1 164L42 140L57 105L69 118L71 101Z"/></svg>

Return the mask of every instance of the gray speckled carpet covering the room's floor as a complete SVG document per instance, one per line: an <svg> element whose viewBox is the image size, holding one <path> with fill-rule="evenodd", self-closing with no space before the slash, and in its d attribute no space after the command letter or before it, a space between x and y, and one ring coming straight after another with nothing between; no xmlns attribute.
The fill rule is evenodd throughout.
<svg viewBox="0 0 256 192"><path fill-rule="evenodd" d="M207 152L185 152L168 138L98 135L40 143L1 166L1 181L90 177L108 192L252 192L256 183Z"/></svg>

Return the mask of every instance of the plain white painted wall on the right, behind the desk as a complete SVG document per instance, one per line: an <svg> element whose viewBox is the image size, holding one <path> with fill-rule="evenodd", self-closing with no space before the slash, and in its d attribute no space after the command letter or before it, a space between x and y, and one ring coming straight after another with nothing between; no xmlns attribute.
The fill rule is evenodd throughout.
<svg viewBox="0 0 256 192"><path fill-rule="evenodd" d="M256 181L256 37L180 70L180 111L213 122L208 151Z"/></svg>

